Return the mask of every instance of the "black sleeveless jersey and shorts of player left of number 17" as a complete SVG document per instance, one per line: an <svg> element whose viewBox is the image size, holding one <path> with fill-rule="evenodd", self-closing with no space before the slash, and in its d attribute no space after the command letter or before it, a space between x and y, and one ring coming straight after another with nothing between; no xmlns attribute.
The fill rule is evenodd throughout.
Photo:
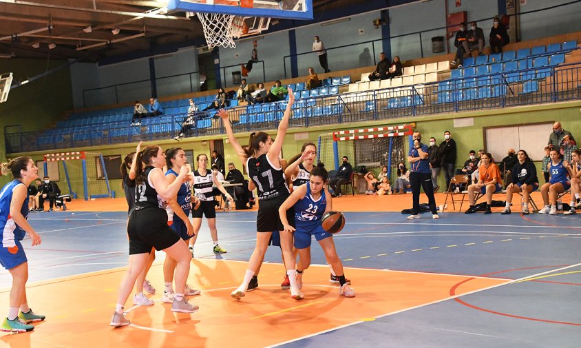
<svg viewBox="0 0 581 348"><path fill-rule="evenodd" d="M180 236L167 225L165 202L149 183L149 173L155 167L145 167L143 183L136 186L135 210L129 216L129 255L145 254L151 248L163 250L180 240Z"/></svg>

